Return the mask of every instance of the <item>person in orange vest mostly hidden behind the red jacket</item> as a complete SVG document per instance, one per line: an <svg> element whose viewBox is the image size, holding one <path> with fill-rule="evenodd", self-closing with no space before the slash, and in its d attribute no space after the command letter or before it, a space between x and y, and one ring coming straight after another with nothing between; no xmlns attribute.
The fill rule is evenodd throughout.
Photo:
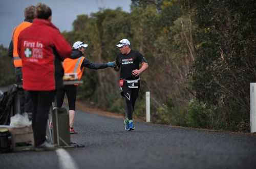
<svg viewBox="0 0 256 169"><path fill-rule="evenodd" d="M16 83L17 85L22 85L23 76L22 76L22 60L20 59L17 52L17 42L20 32L32 25L32 21L35 17L35 6L28 6L24 10L25 20L16 26L13 30L12 40L9 45L8 55L13 57L13 65L15 67ZM28 92L23 89L18 89L18 97L20 103L20 113L29 112L29 117L32 116L32 101L29 97Z"/></svg>

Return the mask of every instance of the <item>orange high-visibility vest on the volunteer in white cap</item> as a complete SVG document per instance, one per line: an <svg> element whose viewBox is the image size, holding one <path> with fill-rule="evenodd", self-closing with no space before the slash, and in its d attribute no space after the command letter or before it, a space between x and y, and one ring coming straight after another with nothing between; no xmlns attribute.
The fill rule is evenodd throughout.
<svg viewBox="0 0 256 169"><path fill-rule="evenodd" d="M84 70L84 67L81 69L83 60L84 57L80 57L77 59L65 59L62 64L64 68L64 73L77 73L77 79L80 80L82 78L82 73Z"/></svg>

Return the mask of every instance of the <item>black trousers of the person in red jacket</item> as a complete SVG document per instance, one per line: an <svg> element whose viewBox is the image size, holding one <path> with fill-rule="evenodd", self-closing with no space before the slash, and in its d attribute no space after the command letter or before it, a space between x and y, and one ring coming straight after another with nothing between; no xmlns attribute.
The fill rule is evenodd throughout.
<svg viewBox="0 0 256 169"><path fill-rule="evenodd" d="M33 102L32 128L35 147L46 140L46 126L55 91L29 91Z"/></svg>

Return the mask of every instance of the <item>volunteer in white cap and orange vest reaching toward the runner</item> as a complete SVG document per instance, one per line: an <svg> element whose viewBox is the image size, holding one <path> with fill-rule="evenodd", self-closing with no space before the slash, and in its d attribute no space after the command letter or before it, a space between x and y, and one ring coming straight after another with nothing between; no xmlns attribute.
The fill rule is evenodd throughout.
<svg viewBox="0 0 256 169"><path fill-rule="evenodd" d="M73 50L71 53L71 58L77 59L65 59L62 63L62 66L65 70L65 77L68 75L73 75L73 78L80 80L84 71L84 67L90 69L104 69L107 67L114 67L115 62L109 63L93 63L90 62L83 55L85 54L85 50L88 44L85 44L81 41L77 41L73 44ZM77 134L74 131L74 116L76 109L76 90L77 85L65 85L64 88L57 91L57 107L60 108L63 104L63 99L65 93L68 97L69 102L69 123L70 123L70 134Z"/></svg>

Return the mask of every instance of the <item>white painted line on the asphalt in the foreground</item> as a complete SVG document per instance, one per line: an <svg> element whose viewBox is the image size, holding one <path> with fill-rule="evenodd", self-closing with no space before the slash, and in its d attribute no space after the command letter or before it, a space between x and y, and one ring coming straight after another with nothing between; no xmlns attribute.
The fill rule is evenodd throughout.
<svg viewBox="0 0 256 169"><path fill-rule="evenodd" d="M56 153L59 159L59 169L78 169L77 164L64 149L57 149Z"/></svg>

